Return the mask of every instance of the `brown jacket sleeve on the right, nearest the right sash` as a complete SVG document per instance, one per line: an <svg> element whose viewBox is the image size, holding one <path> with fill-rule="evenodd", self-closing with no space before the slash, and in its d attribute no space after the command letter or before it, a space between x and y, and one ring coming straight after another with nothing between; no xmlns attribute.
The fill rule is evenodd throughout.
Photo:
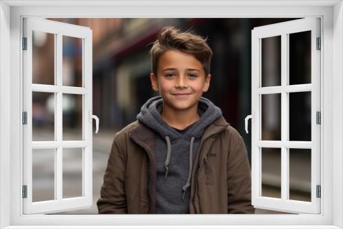
<svg viewBox="0 0 343 229"><path fill-rule="evenodd" d="M251 177L246 145L235 132L231 134L227 167L228 213L254 214L251 205Z"/></svg>

